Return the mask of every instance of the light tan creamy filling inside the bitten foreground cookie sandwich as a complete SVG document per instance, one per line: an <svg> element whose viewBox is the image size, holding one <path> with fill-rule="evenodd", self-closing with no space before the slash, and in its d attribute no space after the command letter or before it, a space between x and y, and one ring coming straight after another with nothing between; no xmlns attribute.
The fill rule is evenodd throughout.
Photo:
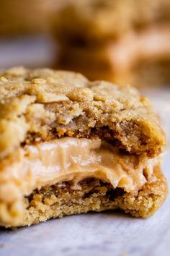
<svg viewBox="0 0 170 256"><path fill-rule="evenodd" d="M79 182L90 177L135 194L146 182L153 182L153 168L158 161L145 154L121 154L99 139L66 137L26 145L1 170L0 200L12 202L58 182L71 181L73 189L81 189Z"/></svg>

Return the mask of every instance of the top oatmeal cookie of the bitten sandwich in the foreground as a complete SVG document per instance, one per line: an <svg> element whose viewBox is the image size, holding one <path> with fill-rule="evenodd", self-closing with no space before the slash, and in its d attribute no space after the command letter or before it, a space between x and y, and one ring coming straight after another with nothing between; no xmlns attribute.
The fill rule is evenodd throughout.
<svg viewBox="0 0 170 256"><path fill-rule="evenodd" d="M0 83L1 158L23 143L54 137L98 136L150 156L165 143L150 101L130 86L22 67L2 72Z"/></svg>

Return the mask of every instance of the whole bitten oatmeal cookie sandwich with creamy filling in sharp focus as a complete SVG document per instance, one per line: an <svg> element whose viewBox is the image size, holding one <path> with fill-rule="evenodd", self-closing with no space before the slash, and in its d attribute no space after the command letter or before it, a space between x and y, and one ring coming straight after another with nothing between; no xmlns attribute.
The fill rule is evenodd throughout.
<svg viewBox="0 0 170 256"><path fill-rule="evenodd" d="M0 75L1 226L161 206L165 135L138 90L51 69Z"/></svg>

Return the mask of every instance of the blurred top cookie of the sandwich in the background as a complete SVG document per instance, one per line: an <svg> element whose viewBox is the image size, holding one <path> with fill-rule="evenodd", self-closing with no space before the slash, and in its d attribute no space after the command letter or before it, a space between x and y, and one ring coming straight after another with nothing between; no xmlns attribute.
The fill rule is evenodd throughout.
<svg viewBox="0 0 170 256"><path fill-rule="evenodd" d="M54 33L62 44L103 44L169 22L169 9L168 0L69 1L54 18Z"/></svg>

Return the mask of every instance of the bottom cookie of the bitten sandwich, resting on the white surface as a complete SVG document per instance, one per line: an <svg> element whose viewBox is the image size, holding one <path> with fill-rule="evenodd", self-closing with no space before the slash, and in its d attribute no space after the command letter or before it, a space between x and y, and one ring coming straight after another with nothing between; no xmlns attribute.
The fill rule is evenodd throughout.
<svg viewBox="0 0 170 256"><path fill-rule="evenodd" d="M137 195L124 192L122 189L113 189L110 184L99 179L85 179L80 182L81 190L73 190L69 182L42 187L24 198L24 215L17 221L17 205L8 210L0 205L0 225L30 226L49 218L117 208L135 217L148 218L161 207L168 192L166 179L159 166L155 168L153 178L153 182L146 183Z"/></svg>

